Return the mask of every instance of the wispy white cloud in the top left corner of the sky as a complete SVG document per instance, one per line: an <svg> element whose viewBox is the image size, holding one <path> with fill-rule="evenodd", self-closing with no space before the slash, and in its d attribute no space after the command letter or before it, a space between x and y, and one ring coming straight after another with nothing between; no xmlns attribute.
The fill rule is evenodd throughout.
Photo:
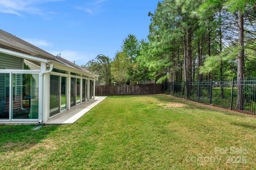
<svg viewBox="0 0 256 170"><path fill-rule="evenodd" d="M63 0L0 0L0 12L22 15L23 12L42 15L38 4Z"/></svg>

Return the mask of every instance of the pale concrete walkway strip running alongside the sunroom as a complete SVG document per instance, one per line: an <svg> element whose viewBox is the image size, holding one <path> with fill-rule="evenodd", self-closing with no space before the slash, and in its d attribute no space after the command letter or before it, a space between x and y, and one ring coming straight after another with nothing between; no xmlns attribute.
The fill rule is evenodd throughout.
<svg viewBox="0 0 256 170"><path fill-rule="evenodd" d="M57 117L52 118L45 124L73 124L85 113L89 112L94 106L98 105L99 103L101 103L101 101L103 101L106 98L107 97L105 96L95 97L94 100L76 106L70 109L70 111L67 111L65 113L60 114Z"/></svg>

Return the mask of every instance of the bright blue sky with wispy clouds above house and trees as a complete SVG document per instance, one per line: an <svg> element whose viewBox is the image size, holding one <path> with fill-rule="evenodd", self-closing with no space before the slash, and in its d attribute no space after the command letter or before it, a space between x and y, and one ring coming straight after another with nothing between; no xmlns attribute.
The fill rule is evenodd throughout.
<svg viewBox="0 0 256 170"><path fill-rule="evenodd" d="M158 0L0 0L1 29L53 55L85 64L113 58L132 33L146 38Z"/></svg>

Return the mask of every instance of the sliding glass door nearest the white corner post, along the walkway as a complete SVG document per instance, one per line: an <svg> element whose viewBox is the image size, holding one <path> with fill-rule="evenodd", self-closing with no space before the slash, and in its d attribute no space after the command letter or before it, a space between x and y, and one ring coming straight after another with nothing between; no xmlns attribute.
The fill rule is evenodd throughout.
<svg viewBox="0 0 256 170"><path fill-rule="evenodd" d="M67 109L67 77L50 75L50 117Z"/></svg>

